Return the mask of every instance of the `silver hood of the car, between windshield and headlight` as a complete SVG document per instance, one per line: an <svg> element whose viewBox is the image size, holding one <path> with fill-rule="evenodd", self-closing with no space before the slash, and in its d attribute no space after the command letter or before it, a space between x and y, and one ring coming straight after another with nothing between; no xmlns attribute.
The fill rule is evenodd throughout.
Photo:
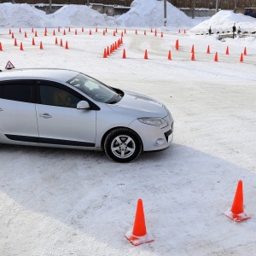
<svg viewBox="0 0 256 256"><path fill-rule="evenodd" d="M116 104L108 107L115 112L132 113L137 117L166 117L168 111L164 104L151 97L124 90L125 95Z"/></svg>

